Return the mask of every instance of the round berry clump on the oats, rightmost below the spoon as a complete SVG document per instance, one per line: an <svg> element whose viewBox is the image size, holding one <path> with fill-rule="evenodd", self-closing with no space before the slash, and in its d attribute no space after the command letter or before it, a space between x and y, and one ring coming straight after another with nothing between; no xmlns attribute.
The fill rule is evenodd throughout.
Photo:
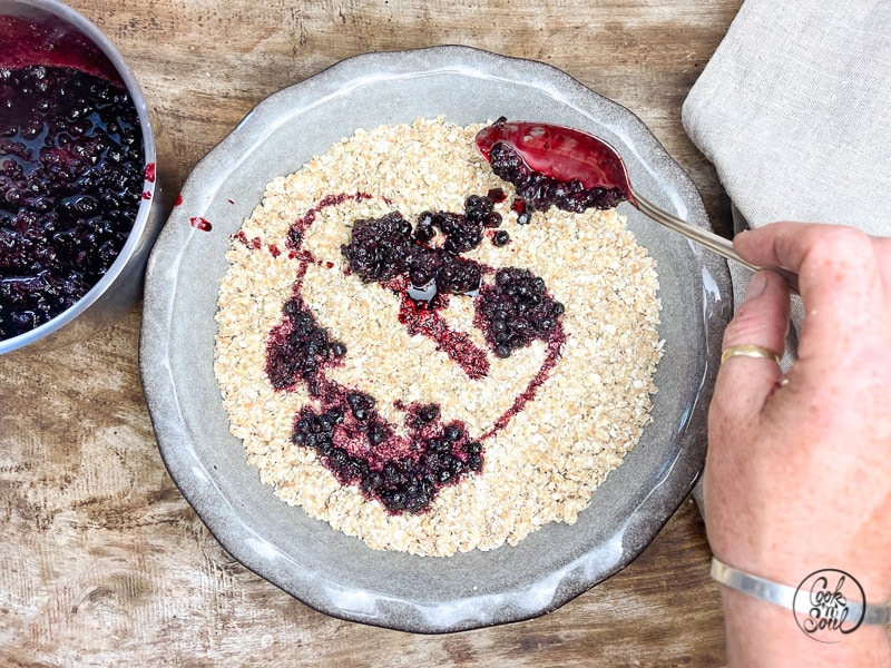
<svg viewBox="0 0 891 668"><path fill-rule="evenodd" d="M508 267L480 288L474 320L496 355L505 358L536 338L548 341L562 313L564 305L548 295L541 277Z"/></svg>

